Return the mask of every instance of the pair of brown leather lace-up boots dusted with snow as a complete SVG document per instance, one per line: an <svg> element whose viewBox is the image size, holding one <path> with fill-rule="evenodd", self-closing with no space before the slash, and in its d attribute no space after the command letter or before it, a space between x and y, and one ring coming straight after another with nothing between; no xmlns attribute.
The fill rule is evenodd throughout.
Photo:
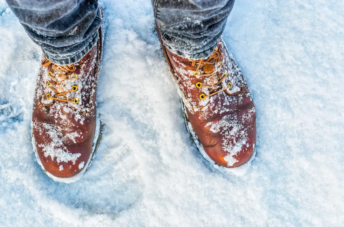
<svg viewBox="0 0 344 227"><path fill-rule="evenodd" d="M172 53L159 30L158 35L198 150L223 167L245 164L255 150L255 107L222 38L208 58L194 60ZM96 90L102 42L99 29L98 43L78 63L62 66L46 58L42 61L33 103L32 142L43 171L56 181L78 180L99 145Z"/></svg>

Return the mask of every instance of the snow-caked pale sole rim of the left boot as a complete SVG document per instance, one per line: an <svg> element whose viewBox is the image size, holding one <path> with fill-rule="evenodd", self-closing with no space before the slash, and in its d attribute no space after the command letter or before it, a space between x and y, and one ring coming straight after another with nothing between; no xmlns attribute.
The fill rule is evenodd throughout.
<svg viewBox="0 0 344 227"><path fill-rule="evenodd" d="M35 152L35 156L36 156L37 162L41 166L43 172L46 175L48 175L48 177L50 177L51 179L53 179L54 181L57 181L57 182L62 182L62 183L70 184L70 183L73 183L73 182L79 180L85 174L85 172L88 170L88 168L91 166L91 163L92 163L92 161L93 161L93 159L94 159L94 157L96 155L97 148L99 146L101 135L102 135L102 128L103 127L102 127L101 122L100 122L100 116L99 116L99 114L97 114L97 117L96 117L96 130L95 130L95 133L94 133L93 144L92 144L92 153L91 153L91 155L90 155L90 157L89 157L89 159L88 159L84 169L81 172L79 172L78 174L76 174L75 176L69 177L69 178L55 177L54 175L49 173L44 168L44 166L43 166L43 164L41 162L41 159L40 159L40 157L38 156L38 153L37 153L35 137L33 136L33 133L31 131L33 150ZM32 127L31 127L31 130L32 130Z"/></svg>

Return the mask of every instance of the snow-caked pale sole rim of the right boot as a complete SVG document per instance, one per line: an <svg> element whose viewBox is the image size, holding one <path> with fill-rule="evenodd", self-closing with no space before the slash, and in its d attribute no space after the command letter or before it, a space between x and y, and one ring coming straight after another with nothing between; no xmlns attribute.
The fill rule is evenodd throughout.
<svg viewBox="0 0 344 227"><path fill-rule="evenodd" d="M234 175L244 175L247 170L249 169L249 167L251 166L251 163L253 161L253 159L256 156L256 147L257 145L255 145L255 150L254 153L252 155L252 157L250 158L250 160L248 160L248 162L246 162L245 164L243 164L242 166L239 167L235 167L235 168L226 168L223 166L220 166L219 164L217 164L216 162L213 161L213 159L211 159L207 153L204 151L204 148L200 142L200 140L198 139L196 133L194 132L191 123L189 121L189 117L187 116L186 110L185 110L185 105L183 100L181 100L182 102L182 108L183 108L183 113L184 113L184 119L185 119L185 125L186 125L186 129L190 134L190 138L191 140L194 142L194 144L196 145L196 148L198 150L198 152L203 156L203 158L209 163L210 166L212 166L213 168L215 168L216 170L218 170L219 172L223 173L223 174L234 174Z"/></svg>

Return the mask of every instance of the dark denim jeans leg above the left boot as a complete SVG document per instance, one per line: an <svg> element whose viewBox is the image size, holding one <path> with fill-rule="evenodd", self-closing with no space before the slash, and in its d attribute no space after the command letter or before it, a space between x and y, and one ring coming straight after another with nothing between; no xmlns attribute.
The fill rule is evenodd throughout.
<svg viewBox="0 0 344 227"><path fill-rule="evenodd" d="M52 63L79 61L98 41L96 0L7 0L26 33Z"/></svg>

